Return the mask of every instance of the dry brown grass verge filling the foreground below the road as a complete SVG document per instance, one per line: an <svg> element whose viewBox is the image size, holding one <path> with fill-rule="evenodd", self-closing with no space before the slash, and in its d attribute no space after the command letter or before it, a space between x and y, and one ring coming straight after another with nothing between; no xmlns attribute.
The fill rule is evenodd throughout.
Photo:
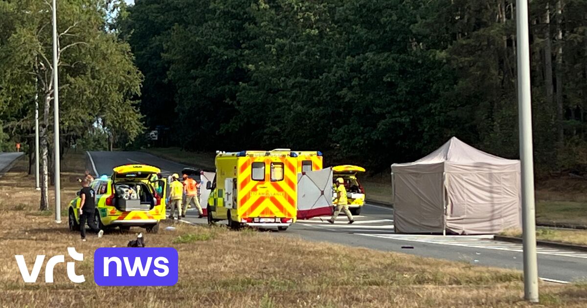
<svg viewBox="0 0 587 308"><path fill-rule="evenodd" d="M69 158L76 163L66 165L80 167L70 170L75 179L83 170L83 158ZM147 246L173 246L179 252L176 286L98 287L92 282L93 251L126 246L139 229L80 242L79 234L69 232L65 223L56 225L51 216L38 215L38 192L22 168L21 163L0 179L0 221L5 226L0 231L2 307L526 306L521 300L521 275L512 270L185 224L146 235ZM63 187L66 201L77 185L71 181ZM66 254L68 246L85 255L76 265L85 283L70 283L65 265L56 267L53 284L22 282L14 255L32 260L41 253ZM587 289L582 285L545 284L541 292L546 306L587 305Z"/></svg>

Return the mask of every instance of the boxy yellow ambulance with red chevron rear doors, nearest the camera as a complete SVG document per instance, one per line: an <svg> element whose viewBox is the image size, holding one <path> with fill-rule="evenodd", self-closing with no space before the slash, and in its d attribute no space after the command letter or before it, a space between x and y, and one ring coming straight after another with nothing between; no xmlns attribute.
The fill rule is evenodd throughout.
<svg viewBox="0 0 587 308"><path fill-rule="evenodd" d="M285 231L295 222L297 170L286 149L218 153L208 198L208 223L226 219L230 228L256 226Z"/></svg>

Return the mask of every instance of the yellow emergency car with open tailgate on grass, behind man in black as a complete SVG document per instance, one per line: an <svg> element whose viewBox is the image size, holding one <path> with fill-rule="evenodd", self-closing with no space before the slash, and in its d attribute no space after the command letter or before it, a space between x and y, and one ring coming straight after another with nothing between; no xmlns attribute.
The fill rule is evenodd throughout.
<svg viewBox="0 0 587 308"><path fill-rule="evenodd" d="M161 170L150 165L122 165L112 176L103 175L90 187L96 192L96 225L100 229L141 226L157 233L165 219L166 180L151 181ZM69 204L69 229L79 231L80 197Z"/></svg>

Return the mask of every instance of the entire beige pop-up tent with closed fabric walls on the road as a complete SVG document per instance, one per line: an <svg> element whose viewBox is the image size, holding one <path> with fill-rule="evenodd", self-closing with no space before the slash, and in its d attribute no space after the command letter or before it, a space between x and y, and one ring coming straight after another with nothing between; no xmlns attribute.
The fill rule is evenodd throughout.
<svg viewBox="0 0 587 308"><path fill-rule="evenodd" d="M456 137L433 153L393 164L394 225L401 233L497 233L519 228L520 163Z"/></svg>

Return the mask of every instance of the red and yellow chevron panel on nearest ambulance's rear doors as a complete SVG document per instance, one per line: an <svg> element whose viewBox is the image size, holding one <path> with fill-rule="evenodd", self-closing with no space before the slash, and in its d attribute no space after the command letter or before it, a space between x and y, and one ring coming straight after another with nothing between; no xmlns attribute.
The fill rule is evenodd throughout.
<svg viewBox="0 0 587 308"><path fill-rule="evenodd" d="M265 163L265 181L251 179L251 165ZM284 164L284 180L271 181L271 163ZM238 215L247 217L295 217L297 173L295 158L248 157L239 160Z"/></svg>

